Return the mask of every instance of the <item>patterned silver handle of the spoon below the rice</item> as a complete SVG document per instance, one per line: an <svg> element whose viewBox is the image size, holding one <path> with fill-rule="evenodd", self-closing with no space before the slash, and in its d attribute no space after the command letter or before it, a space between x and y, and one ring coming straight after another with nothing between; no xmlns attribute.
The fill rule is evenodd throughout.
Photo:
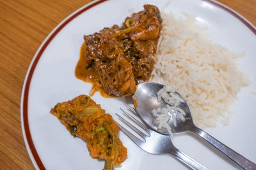
<svg viewBox="0 0 256 170"><path fill-rule="evenodd" d="M193 128L192 132L205 139L205 141L211 143L212 146L220 150L227 157L236 162L239 166L243 167L243 169L256 169L256 164L254 164L252 161L246 159L236 151L213 138L210 134L207 134L207 132L203 131L202 129L195 127Z"/></svg>

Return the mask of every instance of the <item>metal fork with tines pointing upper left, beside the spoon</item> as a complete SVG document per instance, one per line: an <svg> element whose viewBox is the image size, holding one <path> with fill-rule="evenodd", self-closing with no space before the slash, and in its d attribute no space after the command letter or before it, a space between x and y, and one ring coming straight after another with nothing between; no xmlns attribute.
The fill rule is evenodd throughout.
<svg viewBox="0 0 256 170"><path fill-rule="evenodd" d="M136 115L136 112L134 111L134 108L132 108L129 105L126 105L131 110L134 115ZM122 112L131 119L134 123L136 123L138 126L140 126L144 131L147 132L145 134L144 132L141 132L139 129L137 129L134 125L130 124L125 118L121 117L116 113L116 115L122 120L126 125L131 127L135 132L137 132L141 138L145 139L145 141L141 141L139 138L134 136L131 132L127 131L122 125L118 124L119 128L122 132L124 132L136 145L138 145L142 150L145 150L148 153L161 155L164 153L168 153L170 155L173 155L176 157L180 162L183 162L187 166L191 167L191 169L207 169L207 167L202 166L198 162L196 162L194 159L191 159L188 155L178 150L172 143L172 139L170 136L166 136L163 134L159 134L158 132L152 131L148 127L146 127L144 124L136 120L136 118L132 117L127 111L120 108Z"/></svg>

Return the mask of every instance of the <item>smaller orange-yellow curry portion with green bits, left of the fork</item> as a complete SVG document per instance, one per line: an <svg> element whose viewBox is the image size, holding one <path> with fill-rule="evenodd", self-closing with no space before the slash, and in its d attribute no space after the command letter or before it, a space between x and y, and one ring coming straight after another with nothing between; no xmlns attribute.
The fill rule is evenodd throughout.
<svg viewBox="0 0 256 170"><path fill-rule="evenodd" d="M118 138L118 125L89 96L58 103L51 113L72 136L86 141L91 157L105 160L104 170L119 166L127 158L127 149Z"/></svg>

